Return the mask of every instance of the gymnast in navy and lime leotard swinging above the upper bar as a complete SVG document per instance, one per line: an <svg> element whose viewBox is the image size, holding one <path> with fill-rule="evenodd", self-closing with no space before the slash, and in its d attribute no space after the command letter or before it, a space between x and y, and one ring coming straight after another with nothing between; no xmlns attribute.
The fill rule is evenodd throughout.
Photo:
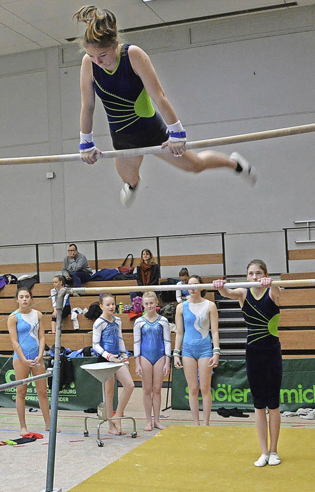
<svg viewBox="0 0 315 492"><path fill-rule="evenodd" d="M93 141L95 94L104 105L115 150L161 145L169 153L157 154L183 171L199 173L226 167L255 184L256 175L246 159L213 151L195 154L185 150L186 132L166 97L148 55L138 46L119 42L115 15L98 7L81 7L73 18L85 23L81 64L81 159L94 164L101 151ZM160 113L155 111L151 99ZM179 158L177 158L179 157ZM131 205L140 183L143 155L116 157L123 181L121 203Z"/></svg>

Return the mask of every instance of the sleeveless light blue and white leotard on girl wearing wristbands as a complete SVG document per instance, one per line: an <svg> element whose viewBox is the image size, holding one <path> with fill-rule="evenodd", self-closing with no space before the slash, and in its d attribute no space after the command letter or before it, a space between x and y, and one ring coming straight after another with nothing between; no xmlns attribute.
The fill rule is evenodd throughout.
<svg viewBox="0 0 315 492"><path fill-rule="evenodd" d="M212 357L209 304L208 299L201 303L189 301L182 303L184 323L182 355L185 357L197 360L202 357Z"/></svg>

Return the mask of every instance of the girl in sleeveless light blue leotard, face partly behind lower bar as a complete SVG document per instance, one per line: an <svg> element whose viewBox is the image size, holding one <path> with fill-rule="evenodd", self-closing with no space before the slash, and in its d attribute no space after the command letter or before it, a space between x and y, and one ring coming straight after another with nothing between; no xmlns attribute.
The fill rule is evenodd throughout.
<svg viewBox="0 0 315 492"><path fill-rule="evenodd" d="M173 355L175 367L184 369L189 391L189 406L193 415L194 425L200 425L200 387L204 412L203 425L209 426L212 406L212 369L217 367L220 355L218 313L212 301L203 299L203 291L189 289L189 284L197 283L203 283L201 277L198 275L189 277L188 291L190 298L176 307L176 338ZM213 350L210 330L214 344ZM181 345L182 363L179 359Z"/></svg>

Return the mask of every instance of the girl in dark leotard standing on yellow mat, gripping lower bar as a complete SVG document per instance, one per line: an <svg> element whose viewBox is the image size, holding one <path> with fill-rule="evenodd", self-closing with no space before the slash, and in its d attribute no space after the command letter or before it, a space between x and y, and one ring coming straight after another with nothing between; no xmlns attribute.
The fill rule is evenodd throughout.
<svg viewBox="0 0 315 492"><path fill-rule="evenodd" d="M280 432L280 387L282 380L281 346L278 335L280 288L273 286L265 262L252 260L247 265L248 282L260 282L260 287L226 289L226 280L214 280L220 294L237 299L248 328L246 370L254 400L256 427L261 456L255 466L280 464L277 444ZM270 447L268 448L269 410Z"/></svg>

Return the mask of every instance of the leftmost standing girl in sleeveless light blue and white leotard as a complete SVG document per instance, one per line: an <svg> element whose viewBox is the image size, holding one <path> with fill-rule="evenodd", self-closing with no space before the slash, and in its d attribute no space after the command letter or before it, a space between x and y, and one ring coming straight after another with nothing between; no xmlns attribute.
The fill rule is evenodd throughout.
<svg viewBox="0 0 315 492"><path fill-rule="evenodd" d="M44 328L40 323L42 313L32 309L31 290L21 287L17 290L15 297L19 307L8 318L8 330L14 349L13 368L15 378L25 379L29 376L30 371L33 376L46 372L43 362L45 348ZM45 421L45 429L49 431L50 414L46 379L36 381L35 386L39 406ZM16 409L22 436L27 433L25 421L26 392L26 384L16 388ZM57 431L60 432L59 429Z"/></svg>

